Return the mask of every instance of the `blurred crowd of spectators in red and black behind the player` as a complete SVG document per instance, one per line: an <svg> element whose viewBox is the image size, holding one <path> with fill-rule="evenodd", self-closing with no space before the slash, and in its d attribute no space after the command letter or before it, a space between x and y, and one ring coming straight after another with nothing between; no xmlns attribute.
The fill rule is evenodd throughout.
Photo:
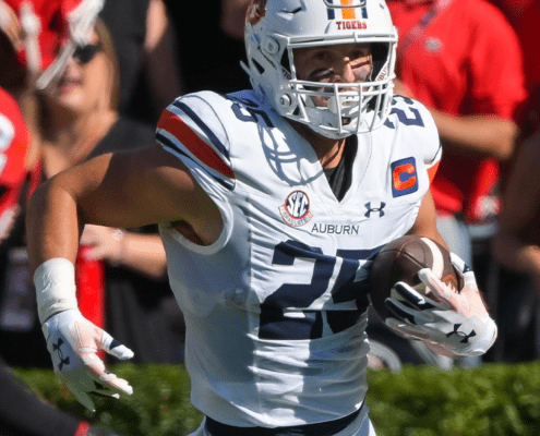
<svg viewBox="0 0 540 436"><path fill-rule="evenodd" d="M77 3L0 0L0 356L12 366L51 367L25 250L33 190L98 154L152 144L161 111L182 94L251 86L240 66L249 0L107 0L89 44L63 50L62 8ZM540 2L387 4L399 33L396 94L423 102L441 135L437 226L472 265L500 334L481 360L453 362L393 336L373 315L370 364L536 360ZM44 76L60 58L63 72ZM88 226L82 244L83 314L132 349L135 363L181 364L182 314L157 228Z"/></svg>

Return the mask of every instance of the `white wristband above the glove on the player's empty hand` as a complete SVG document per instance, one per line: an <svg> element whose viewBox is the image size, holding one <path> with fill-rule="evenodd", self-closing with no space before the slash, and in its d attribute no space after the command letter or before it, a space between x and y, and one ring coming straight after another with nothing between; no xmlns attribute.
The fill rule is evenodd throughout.
<svg viewBox="0 0 540 436"><path fill-rule="evenodd" d="M39 265L34 274L34 284L41 325L59 312L79 308L75 266L67 258L55 257Z"/></svg>

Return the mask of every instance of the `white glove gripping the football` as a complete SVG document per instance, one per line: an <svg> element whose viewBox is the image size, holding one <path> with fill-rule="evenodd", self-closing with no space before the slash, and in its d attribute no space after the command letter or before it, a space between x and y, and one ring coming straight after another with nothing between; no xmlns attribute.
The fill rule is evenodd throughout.
<svg viewBox="0 0 540 436"><path fill-rule="evenodd" d="M439 280L430 268L421 269L418 277L433 298L397 282L394 289L403 301L386 299L394 317L386 318L385 324L448 358L481 355L495 341L497 328L480 295L475 272L456 254L452 253L451 259L465 283L460 292Z"/></svg>

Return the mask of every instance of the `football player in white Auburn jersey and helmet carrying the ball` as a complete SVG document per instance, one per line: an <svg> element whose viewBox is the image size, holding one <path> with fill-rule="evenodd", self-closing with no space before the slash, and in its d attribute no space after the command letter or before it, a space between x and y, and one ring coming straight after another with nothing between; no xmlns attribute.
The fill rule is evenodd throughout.
<svg viewBox="0 0 540 436"><path fill-rule="evenodd" d="M129 350L77 310L80 231L158 222L185 317L191 399L205 415L195 435L374 434L370 259L406 233L444 244L429 191L437 132L422 105L393 95L396 43L383 0L254 0L253 89L180 97L157 145L38 189L27 235L39 316L55 371L83 404L133 389L96 356ZM454 262L461 292L423 270L440 302L399 286L410 304L389 301L389 327L445 354L481 354L496 327L472 272Z"/></svg>

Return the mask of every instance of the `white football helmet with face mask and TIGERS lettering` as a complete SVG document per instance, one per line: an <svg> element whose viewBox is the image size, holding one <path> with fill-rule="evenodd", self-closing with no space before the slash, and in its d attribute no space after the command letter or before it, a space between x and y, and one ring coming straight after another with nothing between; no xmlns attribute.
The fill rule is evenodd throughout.
<svg viewBox="0 0 540 436"><path fill-rule="evenodd" d="M297 48L370 43L367 82L319 83L296 75ZM379 128L391 110L397 31L384 0L252 0L245 48L253 88L279 114L343 138ZM316 106L313 97L324 97ZM321 100L321 99L319 99Z"/></svg>

